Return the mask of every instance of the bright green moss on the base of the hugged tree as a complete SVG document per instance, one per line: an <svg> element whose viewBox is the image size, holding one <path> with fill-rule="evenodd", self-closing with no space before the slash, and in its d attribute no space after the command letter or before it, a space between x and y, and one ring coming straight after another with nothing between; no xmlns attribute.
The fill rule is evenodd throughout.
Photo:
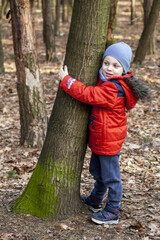
<svg viewBox="0 0 160 240"><path fill-rule="evenodd" d="M74 190L77 181L77 173L65 163L56 164L47 173L43 165L37 164L23 194L13 205L13 212L51 218L59 211L63 201L57 189L65 194L68 188L70 191Z"/></svg>

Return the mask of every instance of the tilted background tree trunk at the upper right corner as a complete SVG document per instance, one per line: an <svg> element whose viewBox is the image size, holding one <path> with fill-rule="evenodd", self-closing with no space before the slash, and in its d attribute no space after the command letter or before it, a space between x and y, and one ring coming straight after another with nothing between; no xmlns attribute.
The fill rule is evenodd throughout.
<svg viewBox="0 0 160 240"><path fill-rule="evenodd" d="M160 10L160 1L153 0L151 12L147 20L147 24L144 26L141 38L139 40L138 48L135 53L134 62L142 63L145 59L147 49L149 47L151 36L154 32L155 25L158 19Z"/></svg>

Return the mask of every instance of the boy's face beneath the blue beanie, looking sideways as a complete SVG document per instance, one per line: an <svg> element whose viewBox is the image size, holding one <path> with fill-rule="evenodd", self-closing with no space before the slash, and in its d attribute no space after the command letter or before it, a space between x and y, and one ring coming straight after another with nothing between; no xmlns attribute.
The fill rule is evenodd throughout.
<svg viewBox="0 0 160 240"><path fill-rule="evenodd" d="M107 79L115 76L121 77L123 67L114 57L106 56L102 63L102 73Z"/></svg>

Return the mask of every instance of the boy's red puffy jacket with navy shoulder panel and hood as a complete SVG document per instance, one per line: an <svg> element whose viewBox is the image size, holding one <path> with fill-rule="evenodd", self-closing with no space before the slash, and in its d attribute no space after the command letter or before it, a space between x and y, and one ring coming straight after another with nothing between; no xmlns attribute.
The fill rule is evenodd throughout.
<svg viewBox="0 0 160 240"><path fill-rule="evenodd" d="M132 77L132 73L125 77ZM133 108L138 101L123 76L106 82L99 78L97 86L86 87L67 75L60 87L75 99L93 105L89 123L89 147L92 152L100 155L119 153L127 135L125 108Z"/></svg>

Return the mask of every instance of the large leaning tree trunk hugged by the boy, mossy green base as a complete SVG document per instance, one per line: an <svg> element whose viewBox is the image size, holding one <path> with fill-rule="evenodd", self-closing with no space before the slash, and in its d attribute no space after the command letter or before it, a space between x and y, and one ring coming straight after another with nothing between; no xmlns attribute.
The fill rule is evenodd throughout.
<svg viewBox="0 0 160 240"><path fill-rule="evenodd" d="M73 77L95 85L105 50L108 0L75 0L65 64ZM82 27L83 26L83 27ZM39 161L17 213L65 218L81 210L80 179L87 146L90 107L58 90Z"/></svg>

